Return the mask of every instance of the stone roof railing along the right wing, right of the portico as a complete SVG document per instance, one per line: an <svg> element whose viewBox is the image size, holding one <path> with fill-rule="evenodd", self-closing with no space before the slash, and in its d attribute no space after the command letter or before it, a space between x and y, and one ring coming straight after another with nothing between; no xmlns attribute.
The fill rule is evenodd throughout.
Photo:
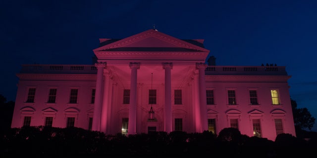
<svg viewBox="0 0 317 158"><path fill-rule="evenodd" d="M283 66L208 66L206 75L287 75Z"/></svg>

